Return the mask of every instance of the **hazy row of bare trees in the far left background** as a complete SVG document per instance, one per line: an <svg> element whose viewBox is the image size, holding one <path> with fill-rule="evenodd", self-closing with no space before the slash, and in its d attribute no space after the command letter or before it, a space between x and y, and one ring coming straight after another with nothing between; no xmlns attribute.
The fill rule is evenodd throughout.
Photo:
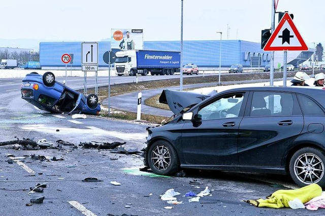
<svg viewBox="0 0 325 216"><path fill-rule="evenodd" d="M40 53L31 51L9 52L0 50L0 59L17 59L18 64L25 64L27 61L39 61Z"/></svg>

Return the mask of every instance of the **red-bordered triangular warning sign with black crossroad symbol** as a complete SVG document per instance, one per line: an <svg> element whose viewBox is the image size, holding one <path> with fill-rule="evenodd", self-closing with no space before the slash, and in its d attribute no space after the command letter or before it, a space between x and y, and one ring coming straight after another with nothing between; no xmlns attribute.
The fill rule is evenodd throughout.
<svg viewBox="0 0 325 216"><path fill-rule="evenodd" d="M284 13L278 26L272 33L264 51L304 51L308 50L290 15Z"/></svg>

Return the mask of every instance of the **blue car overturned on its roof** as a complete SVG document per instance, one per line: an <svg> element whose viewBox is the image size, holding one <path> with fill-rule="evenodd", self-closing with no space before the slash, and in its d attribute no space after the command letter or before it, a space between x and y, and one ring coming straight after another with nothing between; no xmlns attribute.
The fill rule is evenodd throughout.
<svg viewBox="0 0 325 216"><path fill-rule="evenodd" d="M83 113L98 115L101 104L98 96L85 96L68 86L55 81L51 72L39 75L36 72L27 74L20 88L21 98L51 113Z"/></svg>

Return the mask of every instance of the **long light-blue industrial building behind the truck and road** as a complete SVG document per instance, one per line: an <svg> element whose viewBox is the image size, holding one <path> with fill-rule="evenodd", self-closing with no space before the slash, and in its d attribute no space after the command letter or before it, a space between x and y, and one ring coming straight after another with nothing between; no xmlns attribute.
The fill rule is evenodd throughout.
<svg viewBox="0 0 325 216"><path fill-rule="evenodd" d="M61 56L64 53L69 53L73 54L73 64L69 64L69 66L80 69L81 43L41 42L40 64L42 68L60 69L65 67L66 64L61 61ZM271 60L271 53L264 52L260 43L241 40L183 41L183 64L193 63L199 67L207 68L219 67L220 46L221 67L229 67L232 64L242 64L244 67L264 66ZM108 65L104 62L103 55L110 50L110 42L98 42L98 49L99 69L106 69ZM180 51L181 46L179 41L145 41L144 49ZM312 52L310 53L312 54Z"/></svg>

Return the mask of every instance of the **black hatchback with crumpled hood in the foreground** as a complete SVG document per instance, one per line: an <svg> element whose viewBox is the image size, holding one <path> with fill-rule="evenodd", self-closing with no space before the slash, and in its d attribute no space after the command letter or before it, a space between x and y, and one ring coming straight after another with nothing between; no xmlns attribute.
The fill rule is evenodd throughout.
<svg viewBox="0 0 325 216"><path fill-rule="evenodd" d="M303 187L325 186L325 91L247 87L199 97L162 93L175 118L147 128L144 164L171 175L180 168L289 174ZM180 98L180 99L177 99Z"/></svg>

